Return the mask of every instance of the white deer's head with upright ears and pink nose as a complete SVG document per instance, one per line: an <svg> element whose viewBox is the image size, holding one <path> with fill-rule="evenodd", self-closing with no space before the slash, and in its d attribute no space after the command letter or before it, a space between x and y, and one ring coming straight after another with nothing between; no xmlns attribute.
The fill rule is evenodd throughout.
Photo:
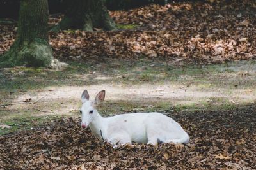
<svg viewBox="0 0 256 170"><path fill-rule="evenodd" d="M80 113L82 114L81 127L86 128L92 122L93 118L97 116L98 112L96 106L100 104L105 99L105 90L100 91L95 97L94 101L89 100L89 94L87 90L83 91L81 96L82 98L82 107Z"/></svg>

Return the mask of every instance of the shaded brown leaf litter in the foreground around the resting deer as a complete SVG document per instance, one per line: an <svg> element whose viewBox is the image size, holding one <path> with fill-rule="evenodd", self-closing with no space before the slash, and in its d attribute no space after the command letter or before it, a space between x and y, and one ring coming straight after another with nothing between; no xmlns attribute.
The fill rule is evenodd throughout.
<svg viewBox="0 0 256 170"><path fill-rule="evenodd" d="M256 169L256 106L166 113L188 132L187 145L99 141L79 120L54 120L0 136L0 169Z"/></svg>

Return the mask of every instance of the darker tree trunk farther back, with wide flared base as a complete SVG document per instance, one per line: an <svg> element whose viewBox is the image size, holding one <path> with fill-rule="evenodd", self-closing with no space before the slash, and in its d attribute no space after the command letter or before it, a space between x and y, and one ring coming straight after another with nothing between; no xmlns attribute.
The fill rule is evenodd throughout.
<svg viewBox="0 0 256 170"><path fill-rule="evenodd" d="M109 16L108 10L102 0L66 0L65 17L52 29L83 29L93 31L93 27L105 30L116 29L115 22Z"/></svg>

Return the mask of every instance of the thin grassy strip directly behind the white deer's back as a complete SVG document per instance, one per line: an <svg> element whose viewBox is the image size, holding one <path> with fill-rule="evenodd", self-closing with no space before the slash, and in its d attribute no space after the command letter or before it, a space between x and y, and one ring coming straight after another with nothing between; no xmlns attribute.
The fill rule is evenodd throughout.
<svg viewBox="0 0 256 170"><path fill-rule="evenodd" d="M244 105L243 103L241 105ZM204 99L197 103L189 104L175 104L173 105L170 101L158 101L158 102L139 102L139 101L108 101L102 104L98 109L101 115L109 116L120 113L136 113L136 112L195 112L196 110L230 110L231 108L237 107L237 104L230 103L224 98L210 98Z"/></svg>

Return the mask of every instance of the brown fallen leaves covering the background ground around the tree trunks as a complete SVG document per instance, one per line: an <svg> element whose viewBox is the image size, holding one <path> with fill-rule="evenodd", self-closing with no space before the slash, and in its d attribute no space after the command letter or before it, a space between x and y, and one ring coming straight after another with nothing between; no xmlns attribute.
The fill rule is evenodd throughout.
<svg viewBox="0 0 256 170"><path fill-rule="evenodd" d="M186 1L111 11L117 24L134 29L51 32L54 56L61 60L95 57L148 57L198 63L255 59L255 1ZM51 25L60 17L50 18ZM0 25L0 54L12 45L17 27ZM99 59L99 58L98 58Z"/></svg>

